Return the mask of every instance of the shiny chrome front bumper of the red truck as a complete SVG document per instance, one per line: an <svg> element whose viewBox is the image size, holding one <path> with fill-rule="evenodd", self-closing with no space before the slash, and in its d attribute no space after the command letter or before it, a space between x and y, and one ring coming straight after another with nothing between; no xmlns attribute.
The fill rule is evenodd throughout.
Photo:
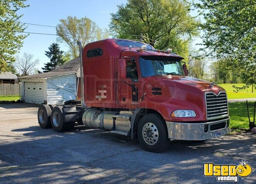
<svg viewBox="0 0 256 184"><path fill-rule="evenodd" d="M230 132L230 117L207 123L182 123L166 121L166 125L170 139L201 141L228 134Z"/></svg>

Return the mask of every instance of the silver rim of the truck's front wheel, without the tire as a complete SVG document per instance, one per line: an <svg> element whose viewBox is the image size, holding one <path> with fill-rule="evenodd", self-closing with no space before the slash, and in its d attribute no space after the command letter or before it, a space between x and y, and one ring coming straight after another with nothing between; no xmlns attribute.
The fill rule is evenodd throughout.
<svg viewBox="0 0 256 184"><path fill-rule="evenodd" d="M158 140L158 129L153 123L146 123L142 129L142 135L144 141L149 145L154 145L157 143Z"/></svg>

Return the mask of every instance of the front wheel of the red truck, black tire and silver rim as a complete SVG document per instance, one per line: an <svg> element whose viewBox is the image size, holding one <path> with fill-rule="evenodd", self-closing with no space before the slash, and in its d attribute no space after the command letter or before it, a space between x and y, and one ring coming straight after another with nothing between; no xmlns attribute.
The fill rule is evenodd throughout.
<svg viewBox="0 0 256 184"><path fill-rule="evenodd" d="M141 118L137 134L143 149L149 152L163 152L170 143L166 122L157 114Z"/></svg>

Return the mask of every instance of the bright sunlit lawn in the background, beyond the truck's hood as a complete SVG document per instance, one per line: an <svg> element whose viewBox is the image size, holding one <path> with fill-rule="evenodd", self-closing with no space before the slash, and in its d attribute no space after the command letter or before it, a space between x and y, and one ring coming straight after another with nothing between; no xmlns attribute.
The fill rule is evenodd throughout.
<svg viewBox="0 0 256 184"><path fill-rule="evenodd" d="M227 97L228 99L236 99L236 98L256 98L256 89L254 89L255 92L252 91L252 87L247 89L241 90L239 92L234 92L234 88L232 87L233 85L237 87L242 87L242 83L238 84L218 84L219 86L223 87L227 91Z"/></svg>

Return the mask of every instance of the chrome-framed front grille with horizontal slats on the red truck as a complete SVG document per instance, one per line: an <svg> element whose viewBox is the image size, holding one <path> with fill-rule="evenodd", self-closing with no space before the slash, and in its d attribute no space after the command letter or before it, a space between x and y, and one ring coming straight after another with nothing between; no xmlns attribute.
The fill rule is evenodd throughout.
<svg viewBox="0 0 256 184"><path fill-rule="evenodd" d="M205 95L207 106L207 118L228 115L227 94L220 92L218 95L210 92Z"/></svg>

